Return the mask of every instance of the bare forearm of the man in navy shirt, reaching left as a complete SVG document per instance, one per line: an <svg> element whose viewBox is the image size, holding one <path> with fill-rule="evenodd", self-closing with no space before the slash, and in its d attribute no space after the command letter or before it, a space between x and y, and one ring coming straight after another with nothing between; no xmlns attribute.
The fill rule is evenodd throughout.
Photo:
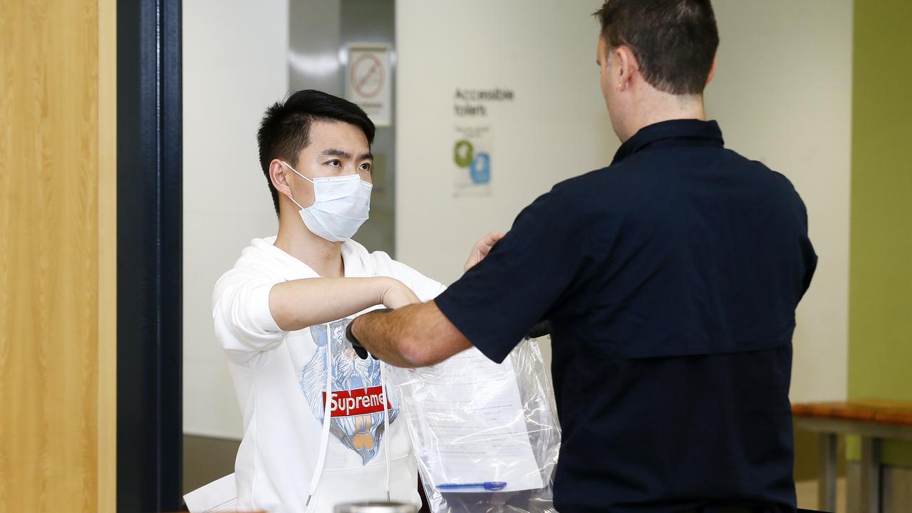
<svg viewBox="0 0 912 513"><path fill-rule="evenodd" d="M352 321L351 332L376 358L397 367L426 367L472 347L433 301L367 313Z"/></svg>

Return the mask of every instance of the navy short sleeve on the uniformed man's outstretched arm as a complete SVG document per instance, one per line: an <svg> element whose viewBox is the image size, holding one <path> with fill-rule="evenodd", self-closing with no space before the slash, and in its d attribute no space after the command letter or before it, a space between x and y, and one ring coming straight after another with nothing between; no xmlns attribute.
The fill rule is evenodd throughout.
<svg viewBox="0 0 912 513"><path fill-rule="evenodd" d="M479 351L502 362L582 279L585 225L564 196L544 194L487 257L440 294L438 308Z"/></svg>

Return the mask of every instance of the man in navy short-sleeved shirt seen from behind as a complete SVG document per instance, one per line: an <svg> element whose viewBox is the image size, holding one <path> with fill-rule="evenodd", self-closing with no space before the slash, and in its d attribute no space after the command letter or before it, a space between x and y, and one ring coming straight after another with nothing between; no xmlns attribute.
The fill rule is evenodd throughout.
<svg viewBox="0 0 912 513"><path fill-rule="evenodd" d="M709 0L607 0L596 17L611 165L535 200L434 301L351 336L400 366L472 346L500 362L547 319L555 508L794 511L794 311L816 265L802 200L705 120Z"/></svg>

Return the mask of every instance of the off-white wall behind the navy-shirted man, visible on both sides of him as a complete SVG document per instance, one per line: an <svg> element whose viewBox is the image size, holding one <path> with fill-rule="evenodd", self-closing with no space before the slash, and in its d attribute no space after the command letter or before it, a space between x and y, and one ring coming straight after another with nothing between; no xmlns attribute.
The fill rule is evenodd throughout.
<svg viewBox="0 0 912 513"><path fill-rule="evenodd" d="M397 4L397 249L451 282L472 242L507 229L553 183L617 149L598 89L601 0ZM821 256L798 310L793 400L846 389L851 0L713 3L720 26L710 118L727 145L787 175ZM453 198L453 89L509 87L495 127L492 196Z"/></svg>

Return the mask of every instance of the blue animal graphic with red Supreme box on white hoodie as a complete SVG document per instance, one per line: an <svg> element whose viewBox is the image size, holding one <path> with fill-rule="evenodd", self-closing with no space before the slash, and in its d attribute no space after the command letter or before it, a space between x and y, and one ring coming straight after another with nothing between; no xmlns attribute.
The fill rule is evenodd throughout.
<svg viewBox="0 0 912 513"><path fill-rule="evenodd" d="M345 330L349 322L351 319L330 323L329 336L325 324L310 327L316 352L301 371L301 391L310 405L310 411L322 423L326 403L326 351L331 351L329 432L357 452L362 464L367 465L380 450L384 407L389 407L390 424L399 416L399 408L391 399L387 406L380 383L380 365L384 363L371 357L361 360L346 340Z"/></svg>

